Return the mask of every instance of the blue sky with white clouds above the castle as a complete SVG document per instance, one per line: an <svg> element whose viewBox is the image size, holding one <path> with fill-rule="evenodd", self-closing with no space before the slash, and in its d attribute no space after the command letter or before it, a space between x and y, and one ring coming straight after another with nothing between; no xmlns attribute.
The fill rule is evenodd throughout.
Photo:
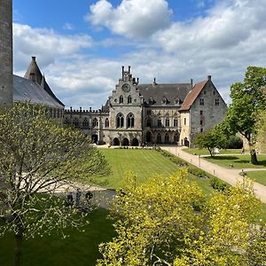
<svg viewBox="0 0 266 266"><path fill-rule="evenodd" d="M229 102L246 67L265 64L265 14L264 0L13 0L14 71L36 56L74 108L104 104L122 65L140 82L211 74Z"/></svg>

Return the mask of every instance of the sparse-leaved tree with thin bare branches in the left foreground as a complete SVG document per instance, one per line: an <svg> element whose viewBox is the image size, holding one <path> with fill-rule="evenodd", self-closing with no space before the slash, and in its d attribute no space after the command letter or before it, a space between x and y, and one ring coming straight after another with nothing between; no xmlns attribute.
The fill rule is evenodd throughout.
<svg viewBox="0 0 266 266"><path fill-rule="evenodd" d="M88 137L50 121L43 106L18 104L0 115L0 235L14 233L15 265L24 238L82 222L55 192L106 169Z"/></svg>

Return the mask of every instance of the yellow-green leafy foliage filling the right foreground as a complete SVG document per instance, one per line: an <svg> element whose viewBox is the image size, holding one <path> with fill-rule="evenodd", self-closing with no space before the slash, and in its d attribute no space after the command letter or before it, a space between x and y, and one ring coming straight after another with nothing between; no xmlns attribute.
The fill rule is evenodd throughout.
<svg viewBox="0 0 266 266"><path fill-rule="evenodd" d="M118 237L100 246L99 265L263 265L265 227L250 181L207 200L182 169L127 186L113 202Z"/></svg>

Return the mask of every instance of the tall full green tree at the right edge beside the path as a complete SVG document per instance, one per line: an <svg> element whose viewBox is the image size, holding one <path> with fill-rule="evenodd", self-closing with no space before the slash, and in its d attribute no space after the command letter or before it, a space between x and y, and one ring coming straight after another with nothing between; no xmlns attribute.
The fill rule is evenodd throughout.
<svg viewBox="0 0 266 266"><path fill-rule="evenodd" d="M248 66L244 82L231 85L232 102L223 123L225 128L230 129L233 134L239 132L246 138L253 164L258 164L254 148L255 123L266 105L265 94L263 94L265 87L266 68Z"/></svg>

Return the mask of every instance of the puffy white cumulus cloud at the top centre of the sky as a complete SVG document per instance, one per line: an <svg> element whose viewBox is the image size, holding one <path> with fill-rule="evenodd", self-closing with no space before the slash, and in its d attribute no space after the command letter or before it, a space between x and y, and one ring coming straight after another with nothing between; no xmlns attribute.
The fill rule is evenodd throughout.
<svg viewBox="0 0 266 266"><path fill-rule="evenodd" d="M171 12L166 0L122 0L117 7L107 0L99 0L90 5L85 19L94 26L109 28L114 34L146 37L167 27Z"/></svg>

